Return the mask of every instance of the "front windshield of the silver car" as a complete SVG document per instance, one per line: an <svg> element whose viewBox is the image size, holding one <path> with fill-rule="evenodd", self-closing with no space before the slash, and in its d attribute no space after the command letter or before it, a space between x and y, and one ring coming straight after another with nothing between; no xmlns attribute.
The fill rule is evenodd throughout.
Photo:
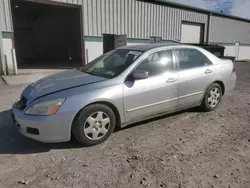
<svg viewBox="0 0 250 188"><path fill-rule="evenodd" d="M87 64L82 71L99 77L114 78L126 70L141 54L141 51L127 49L113 50Z"/></svg>

